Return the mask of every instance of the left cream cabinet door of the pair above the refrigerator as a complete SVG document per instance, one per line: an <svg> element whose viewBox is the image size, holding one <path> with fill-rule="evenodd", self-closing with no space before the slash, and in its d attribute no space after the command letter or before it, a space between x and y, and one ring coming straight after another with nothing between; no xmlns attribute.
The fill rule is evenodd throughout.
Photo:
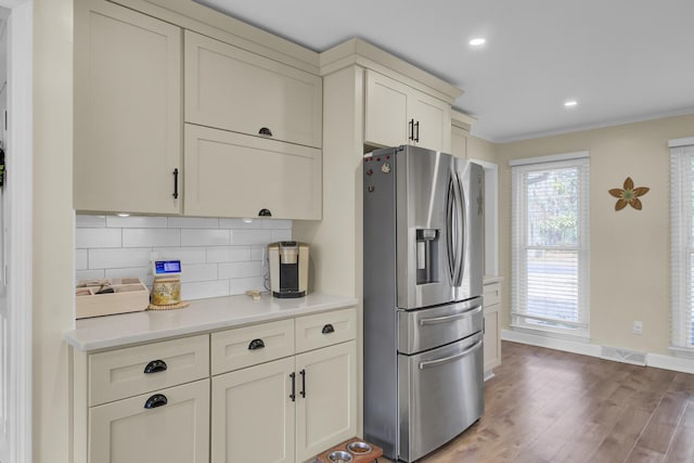
<svg viewBox="0 0 694 463"><path fill-rule="evenodd" d="M364 143L376 146L408 144L410 88L371 69L365 70Z"/></svg>

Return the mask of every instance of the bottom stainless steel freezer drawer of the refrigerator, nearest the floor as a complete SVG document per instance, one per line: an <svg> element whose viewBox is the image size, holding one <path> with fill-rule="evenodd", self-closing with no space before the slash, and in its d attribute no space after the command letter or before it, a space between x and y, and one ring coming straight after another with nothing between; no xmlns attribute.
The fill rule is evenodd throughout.
<svg viewBox="0 0 694 463"><path fill-rule="evenodd" d="M419 460L484 411L483 334L415 356L398 356L399 458Z"/></svg>

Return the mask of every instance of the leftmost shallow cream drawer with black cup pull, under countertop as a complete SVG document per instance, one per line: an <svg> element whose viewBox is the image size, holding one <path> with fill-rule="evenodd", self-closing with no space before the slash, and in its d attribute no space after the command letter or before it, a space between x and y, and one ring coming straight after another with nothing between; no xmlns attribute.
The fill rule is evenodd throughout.
<svg viewBox="0 0 694 463"><path fill-rule="evenodd" d="M98 406L207 376L208 335L93 353L89 356L89 404Z"/></svg>

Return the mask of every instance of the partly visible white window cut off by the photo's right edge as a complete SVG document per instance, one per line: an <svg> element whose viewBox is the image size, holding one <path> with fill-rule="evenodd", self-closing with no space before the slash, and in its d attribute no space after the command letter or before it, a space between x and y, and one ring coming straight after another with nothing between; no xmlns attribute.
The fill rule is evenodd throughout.
<svg viewBox="0 0 694 463"><path fill-rule="evenodd" d="M694 353L694 138L670 143L671 346Z"/></svg>

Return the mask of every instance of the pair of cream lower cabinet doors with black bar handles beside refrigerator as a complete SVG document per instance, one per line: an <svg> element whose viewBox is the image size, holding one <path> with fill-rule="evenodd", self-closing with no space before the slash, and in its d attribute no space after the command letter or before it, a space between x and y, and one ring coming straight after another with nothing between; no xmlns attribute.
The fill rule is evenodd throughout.
<svg viewBox="0 0 694 463"><path fill-rule="evenodd" d="M213 377L214 463L304 462L356 435L350 340Z"/></svg>

